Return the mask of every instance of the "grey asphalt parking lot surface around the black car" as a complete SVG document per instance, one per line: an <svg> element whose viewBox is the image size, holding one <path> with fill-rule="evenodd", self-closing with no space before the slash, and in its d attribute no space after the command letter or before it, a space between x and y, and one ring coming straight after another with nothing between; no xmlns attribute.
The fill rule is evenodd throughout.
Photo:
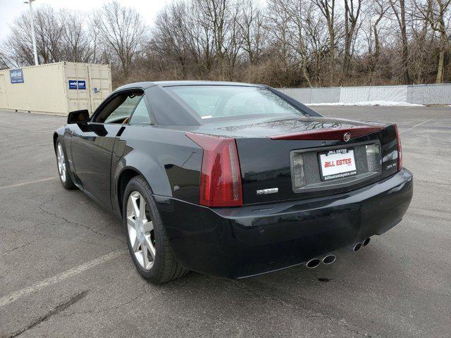
<svg viewBox="0 0 451 338"><path fill-rule="evenodd" d="M314 107L398 123L414 199L332 265L154 286L121 224L57 179L65 118L0 112L0 337L451 337L451 107Z"/></svg>

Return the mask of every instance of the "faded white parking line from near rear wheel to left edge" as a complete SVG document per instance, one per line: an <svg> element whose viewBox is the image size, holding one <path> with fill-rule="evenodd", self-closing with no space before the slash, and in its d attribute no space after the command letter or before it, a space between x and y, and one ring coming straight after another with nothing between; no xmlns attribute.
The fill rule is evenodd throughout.
<svg viewBox="0 0 451 338"><path fill-rule="evenodd" d="M24 287L23 289L12 292L11 294L8 294L7 296L3 296L0 298L0 306L4 306L9 303L13 303L13 301L17 301L18 299L22 298L23 296L27 296L29 294L34 294L35 292L39 291L40 289L44 289L44 287L49 287L50 285L61 282L61 280L66 280L68 277L72 277L73 275L78 275L79 273L82 273L85 270L93 268L96 265L105 263L106 261L111 261L111 259L114 259L114 258L118 258L118 256L123 255L125 252L126 252L126 250L123 250L123 249L111 251L110 253L106 253L106 255L104 255L104 256L95 258L92 261L89 261L85 264L78 265L75 268L66 270L63 273L60 273L59 275L56 275L54 277L49 277L49 278L47 278L47 280L42 280L41 282L32 284L30 287Z"/></svg>

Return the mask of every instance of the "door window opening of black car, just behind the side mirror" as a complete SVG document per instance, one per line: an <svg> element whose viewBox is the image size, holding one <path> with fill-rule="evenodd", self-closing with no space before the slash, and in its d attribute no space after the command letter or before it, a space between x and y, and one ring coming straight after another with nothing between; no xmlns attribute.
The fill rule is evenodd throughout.
<svg viewBox="0 0 451 338"><path fill-rule="evenodd" d="M126 92L115 96L94 117L97 123L127 123L142 97L142 92Z"/></svg>

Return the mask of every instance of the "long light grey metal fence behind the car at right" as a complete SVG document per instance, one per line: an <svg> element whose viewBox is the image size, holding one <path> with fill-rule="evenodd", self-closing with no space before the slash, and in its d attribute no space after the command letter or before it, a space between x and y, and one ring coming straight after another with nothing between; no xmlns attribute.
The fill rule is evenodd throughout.
<svg viewBox="0 0 451 338"><path fill-rule="evenodd" d="M366 101L405 102L408 104L451 104L451 84L415 84L412 86L281 88L288 96L304 104Z"/></svg>

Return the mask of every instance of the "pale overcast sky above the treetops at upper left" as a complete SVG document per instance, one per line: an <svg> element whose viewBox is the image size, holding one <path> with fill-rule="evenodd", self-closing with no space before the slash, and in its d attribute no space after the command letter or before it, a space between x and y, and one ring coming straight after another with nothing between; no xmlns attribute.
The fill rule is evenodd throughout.
<svg viewBox="0 0 451 338"><path fill-rule="evenodd" d="M25 0L0 0L0 42L9 34L8 24L11 24L23 11L29 10ZM118 0L121 4L134 7L139 11L148 25L152 25L156 13L171 0ZM80 11L92 11L108 0L35 0L33 8L48 4L54 9L68 8Z"/></svg>

